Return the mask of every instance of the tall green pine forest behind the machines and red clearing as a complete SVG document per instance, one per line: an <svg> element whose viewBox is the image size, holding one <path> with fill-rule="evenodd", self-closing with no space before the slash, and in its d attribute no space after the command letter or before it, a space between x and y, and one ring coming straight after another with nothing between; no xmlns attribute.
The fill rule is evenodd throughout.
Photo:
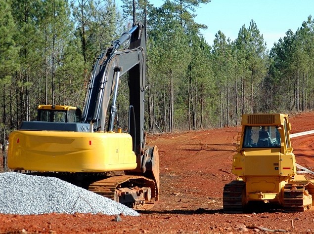
<svg viewBox="0 0 314 234"><path fill-rule="evenodd" d="M253 19L235 40L219 31L209 45L200 33L206 26L194 18L210 0L158 7L136 0L136 11L132 0L122 2L118 9L115 0L0 0L1 139L34 120L39 104L82 108L95 59L132 27L132 17L147 30L147 131L232 126L244 113L314 108L311 16L269 51ZM125 85L120 103L128 102Z"/></svg>

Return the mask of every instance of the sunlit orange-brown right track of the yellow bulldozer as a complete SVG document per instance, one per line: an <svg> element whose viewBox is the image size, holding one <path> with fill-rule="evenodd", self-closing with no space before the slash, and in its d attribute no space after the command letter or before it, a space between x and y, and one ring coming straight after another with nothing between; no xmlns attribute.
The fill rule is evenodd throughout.
<svg viewBox="0 0 314 234"><path fill-rule="evenodd" d="M294 182L284 186L282 204L284 212L303 212L312 209L312 195L307 190L309 185L313 186L310 182Z"/></svg>

